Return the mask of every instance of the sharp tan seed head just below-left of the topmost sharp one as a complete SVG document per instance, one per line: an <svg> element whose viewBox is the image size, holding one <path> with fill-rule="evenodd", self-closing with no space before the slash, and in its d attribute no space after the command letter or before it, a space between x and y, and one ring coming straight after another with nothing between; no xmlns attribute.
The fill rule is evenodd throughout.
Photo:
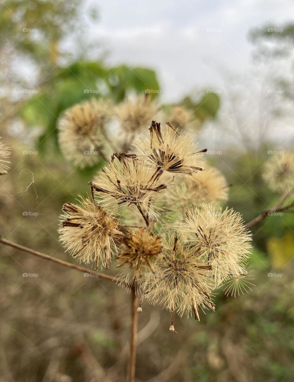
<svg viewBox="0 0 294 382"><path fill-rule="evenodd" d="M167 177L155 178L154 170L135 155L120 153L112 157L109 166L102 168L102 173L90 184L105 206L116 209L122 204L133 204L154 216L152 197L171 182Z"/></svg>

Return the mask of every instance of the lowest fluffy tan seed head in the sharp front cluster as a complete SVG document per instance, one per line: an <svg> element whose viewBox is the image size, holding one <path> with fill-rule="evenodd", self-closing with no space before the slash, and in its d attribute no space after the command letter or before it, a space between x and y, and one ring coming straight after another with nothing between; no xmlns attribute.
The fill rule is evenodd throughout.
<svg viewBox="0 0 294 382"><path fill-rule="evenodd" d="M156 273L142 276L146 299L169 311L177 310L180 316L193 312L199 321L199 307L214 310L211 265L203 264L195 248L187 246L174 232L162 236L161 242L162 254L156 261Z"/></svg>

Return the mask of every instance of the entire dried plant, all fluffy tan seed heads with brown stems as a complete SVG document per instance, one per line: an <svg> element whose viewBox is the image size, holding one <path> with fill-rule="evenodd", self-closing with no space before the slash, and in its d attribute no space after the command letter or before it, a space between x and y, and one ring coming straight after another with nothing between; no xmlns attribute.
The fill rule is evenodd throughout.
<svg viewBox="0 0 294 382"><path fill-rule="evenodd" d="M119 105L115 114L133 139L158 110L157 104L142 98ZM267 216L265 211L245 226L240 214L215 206L226 201L227 182L215 168L204 170L206 149L199 150L192 137L180 130L192 128L193 117L184 108L175 108L173 113L171 121L175 127L167 122L161 128L160 123L152 120L149 135L136 136L133 150L129 150L130 141L125 142L126 150L115 152L89 182L92 199L80 197L79 204L65 203L60 216L58 231L67 251L80 262L94 264L96 270L108 268L115 261L119 277L99 273L100 278L132 291L131 382L135 374L136 311L142 312L144 298L171 312L170 330L175 332L175 312L180 316L193 314L199 321L200 310L214 311L213 296L222 284L230 295L250 289L251 279L245 267L252 247L246 227ZM84 101L68 109L58 126L65 156L81 167L96 163L97 155L84 155L84 151L101 150L107 141L106 123L113 115L101 100ZM1 164L8 151L3 144L0 149ZM272 188L288 189L293 185L292 154L274 158L266 168L271 175L265 179ZM172 211L169 226L164 225L163 219L166 206ZM288 211L291 207L292 204L277 205L273 210ZM0 241L98 275L94 270L8 240Z"/></svg>

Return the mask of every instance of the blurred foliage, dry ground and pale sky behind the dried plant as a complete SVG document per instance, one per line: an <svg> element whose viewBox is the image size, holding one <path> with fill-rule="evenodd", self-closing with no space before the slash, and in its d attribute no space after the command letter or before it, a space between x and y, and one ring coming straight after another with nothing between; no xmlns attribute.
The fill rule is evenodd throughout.
<svg viewBox="0 0 294 382"><path fill-rule="evenodd" d="M273 152L293 149L293 17L290 0L1 2L0 136L12 156L0 179L0 234L75 262L58 241L58 215L104 162L68 163L58 118L93 96L117 104L146 89L200 120L197 140L232 184L225 206L247 222L275 204L261 173ZM136 380L292 381L293 215L270 216L252 233L252 292L221 291L215 312L177 319L177 333L167 312L145 306ZM8 247L0 253L0 380L125 380L127 292Z"/></svg>

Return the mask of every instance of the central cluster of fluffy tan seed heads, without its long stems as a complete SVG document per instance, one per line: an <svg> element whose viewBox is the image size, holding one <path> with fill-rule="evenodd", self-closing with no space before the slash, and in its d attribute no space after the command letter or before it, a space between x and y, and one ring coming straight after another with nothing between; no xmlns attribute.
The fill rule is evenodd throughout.
<svg viewBox="0 0 294 382"><path fill-rule="evenodd" d="M135 132L149 117L136 124L135 108L126 105L120 118ZM122 284L141 290L138 312L146 298L173 317L178 312L199 320L199 309L214 310L216 288L245 277L251 237L239 214L213 206L227 199L228 185L215 168L203 171L205 151L171 123L161 128L153 120L148 134L135 137L133 151L113 154L89 182L92 201L63 206L60 240L95 268L115 256ZM177 213L164 230L160 206L167 204Z"/></svg>

